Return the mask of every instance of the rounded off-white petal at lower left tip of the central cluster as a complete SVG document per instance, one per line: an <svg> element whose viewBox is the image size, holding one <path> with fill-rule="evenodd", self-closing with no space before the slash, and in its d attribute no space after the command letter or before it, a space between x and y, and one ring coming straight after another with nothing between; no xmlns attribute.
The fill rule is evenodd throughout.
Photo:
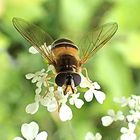
<svg viewBox="0 0 140 140"><path fill-rule="evenodd" d="M26 106L26 112L29 114L35 114L38 111L39 108L39 103L38 102L34 102L32 104L28 104Z"/></svg>

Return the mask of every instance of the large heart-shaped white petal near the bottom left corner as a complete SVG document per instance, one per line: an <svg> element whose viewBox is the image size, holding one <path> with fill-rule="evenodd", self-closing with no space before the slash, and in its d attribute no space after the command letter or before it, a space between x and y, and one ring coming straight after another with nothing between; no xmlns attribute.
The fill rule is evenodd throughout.
<svg viewBox="0 0 140 140"><path fill-rule="evenodd" d="M24 138L33 140L39 131L39 126L36 122L31 122L29 124L25 123L21 126L21 133Z"/></svg>

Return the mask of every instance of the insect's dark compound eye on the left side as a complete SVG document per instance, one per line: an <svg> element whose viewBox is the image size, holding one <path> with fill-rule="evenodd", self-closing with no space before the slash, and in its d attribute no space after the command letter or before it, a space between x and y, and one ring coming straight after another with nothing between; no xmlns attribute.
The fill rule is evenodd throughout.
<svg viewBox="0 0 140 140"><path fill-rule="evenodd" d="M55 83L58 86L62 87L65 84L66 79L67 79L67 74L66 73L59 73L55 78Z"/></svg>

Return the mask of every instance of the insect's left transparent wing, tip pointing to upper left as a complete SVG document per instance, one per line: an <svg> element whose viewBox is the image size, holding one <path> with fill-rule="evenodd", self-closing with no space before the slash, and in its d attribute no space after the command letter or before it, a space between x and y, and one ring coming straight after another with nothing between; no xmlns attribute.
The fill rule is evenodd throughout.
<svg viewBox="0 0 140 140"><path fill-rule="evenodd" d="M17 31L29 42L36 50L49 61L54 63L53 54L49 47L53 42L53 39L44 32L42 29L34 24L28 23L21 18L13 18L12 20L14 27Z"/></svg>

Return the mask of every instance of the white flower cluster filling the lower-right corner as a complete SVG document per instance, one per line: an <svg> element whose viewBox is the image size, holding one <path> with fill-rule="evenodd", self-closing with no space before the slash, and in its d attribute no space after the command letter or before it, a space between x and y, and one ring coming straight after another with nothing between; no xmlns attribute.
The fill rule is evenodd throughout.
<svg viewBox="0 0 140 140"><path fill-rule="evenodd" d="M122 111L118 111L116 114L114 110L109 110L108 115L102 117L102 124L104 126L109 126L114 121L125 121L128 128L122 127L120 132L121 140L136 140L137 136L135 134L136 126L140 122L140 96L132 95L129 98L115 98L115 102L119 103L121 107L127 107L129 111L126 115Z"/></svg>

